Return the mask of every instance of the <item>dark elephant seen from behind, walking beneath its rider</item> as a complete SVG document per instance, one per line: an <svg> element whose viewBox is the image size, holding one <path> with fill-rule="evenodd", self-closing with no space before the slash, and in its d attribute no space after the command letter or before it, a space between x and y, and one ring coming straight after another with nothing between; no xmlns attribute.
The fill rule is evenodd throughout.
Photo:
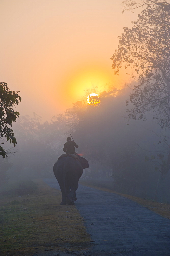
<svg viewBox="0 0 170 256"><path fill-rule="evenodd" d="M62 157L65 156L65 157ZM61 189L62 201L60 205L72 205L77 200L75 191L79 187L79 179L83 174L83 167L73 154L63 154L54 164L53 171Z"/></svg>

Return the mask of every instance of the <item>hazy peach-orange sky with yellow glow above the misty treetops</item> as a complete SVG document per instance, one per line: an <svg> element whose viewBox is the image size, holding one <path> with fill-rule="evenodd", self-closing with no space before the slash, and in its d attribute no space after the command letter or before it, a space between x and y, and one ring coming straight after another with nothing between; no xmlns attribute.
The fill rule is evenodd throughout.
<svg viewBox="0 0 170 256"><path fill-rule="evenodd" d="M122 14L120 0L1 0L2 82L20 91L21 115L50 120L106 83L121 88L110 57L123 27L137 13Z"/></svg>

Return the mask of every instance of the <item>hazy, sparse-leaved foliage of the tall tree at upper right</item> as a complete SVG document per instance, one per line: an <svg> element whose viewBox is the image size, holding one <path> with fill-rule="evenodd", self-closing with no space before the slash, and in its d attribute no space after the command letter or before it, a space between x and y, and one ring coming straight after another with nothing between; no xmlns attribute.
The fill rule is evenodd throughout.
<svg viewBox="0 0 170 256"><path fill-rule="evenodd" d="M129 8L136 8L135 1L124 1ZM151 111L153 118L164 128L170 127L170 4L166 1L144 1L147 7L124 27L119 46L111 57L112 68L118 74L124 67L136 84L126 105L131 102L128 116L133 120L146 119ZM130 71L129 71L130 70Z"/></svg>

